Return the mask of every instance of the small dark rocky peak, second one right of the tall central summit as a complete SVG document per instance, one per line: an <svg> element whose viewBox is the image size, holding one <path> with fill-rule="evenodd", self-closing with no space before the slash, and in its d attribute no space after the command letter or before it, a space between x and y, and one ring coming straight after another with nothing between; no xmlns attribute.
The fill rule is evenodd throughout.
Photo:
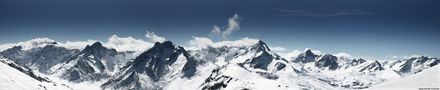
<svg viewBox="0 0 440 90"><path fill-rule="evenodd" d="M337 60L338 58L336 56L325 54L315 63L315 66L319 68L328 67L329 70L336 70L339 67Z"/></svg>

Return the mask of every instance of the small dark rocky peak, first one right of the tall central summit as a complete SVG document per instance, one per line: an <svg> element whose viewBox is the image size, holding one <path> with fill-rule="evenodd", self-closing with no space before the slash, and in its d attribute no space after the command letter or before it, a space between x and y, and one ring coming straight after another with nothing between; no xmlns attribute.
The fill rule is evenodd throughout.
<svg viewBox="0 0 440 90"><path fill-rule="evenodd" d="M299 54L293 62L295 62L295 63L315 62L316 57L317 57L317 55L315 55L310 49L308 49L304 53Z"/></svg>

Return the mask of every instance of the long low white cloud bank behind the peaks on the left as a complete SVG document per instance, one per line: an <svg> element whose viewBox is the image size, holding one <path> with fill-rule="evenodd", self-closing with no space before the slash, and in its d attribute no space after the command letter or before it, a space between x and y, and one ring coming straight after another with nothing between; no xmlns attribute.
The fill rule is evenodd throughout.
<svg viewBox="0 0 440 90"><path fill-rule="evenodd" d="M147 32L146 36L149 41L134 37L119 37L117 35L112 35L107 39L106 42L99 40L56 42L55 40L49 38L35 38L24 42L1 44L0 51L12 48L14 46L22 46L23 50L29 50L37 47L44 47L48 44L54 44L55 42L56 46L65 47L68 49L83 49L87 45L91 45L95 42L102 42L105 47L116 49L118 52L133 51L138 53L153 47L155 42L163 42L166 40L164 37L157 36L154 34L154 32Z"/></svg>

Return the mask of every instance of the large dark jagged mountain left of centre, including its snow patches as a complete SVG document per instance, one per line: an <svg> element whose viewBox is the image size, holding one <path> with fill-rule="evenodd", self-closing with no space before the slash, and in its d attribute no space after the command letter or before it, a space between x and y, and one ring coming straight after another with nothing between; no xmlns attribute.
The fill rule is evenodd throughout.
<svg viewBox="0 0 440 90"><path fill-rule="evenodd" d="M163 89L174 78L190 78L198 62L172 42L155 43L102 85L109 89Z"/></svg>

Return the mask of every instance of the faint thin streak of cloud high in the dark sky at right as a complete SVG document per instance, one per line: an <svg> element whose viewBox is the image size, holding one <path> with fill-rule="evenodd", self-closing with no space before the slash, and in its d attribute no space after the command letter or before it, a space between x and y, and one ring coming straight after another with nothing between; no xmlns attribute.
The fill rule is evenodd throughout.
<svg viewBox="0 0 440 90"><path fill-rule="evenodd" d="M307 9L279 9L285 16L303 16L303 17L333 17L333 16L356 16L356 15L371 15L372 12L352 9L339 11L313 11Z"/></svg>

